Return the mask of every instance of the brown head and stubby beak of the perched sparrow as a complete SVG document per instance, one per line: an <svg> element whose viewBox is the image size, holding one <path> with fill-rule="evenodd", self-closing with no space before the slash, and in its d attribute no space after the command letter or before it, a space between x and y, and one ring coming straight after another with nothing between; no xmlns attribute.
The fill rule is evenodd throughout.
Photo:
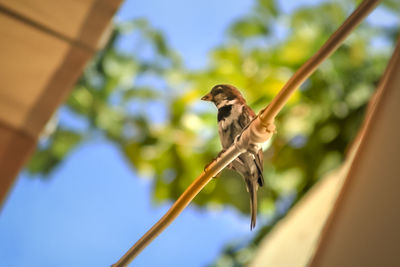
<svg viewBox="0 0 400 267"><path fill-rule="evenodd" d="M225 103L246 103L242 94L236 87L229 84L218 84L214 86L211 91L203 96L201 100L211 101L217 107L223 106Z"/></svg>

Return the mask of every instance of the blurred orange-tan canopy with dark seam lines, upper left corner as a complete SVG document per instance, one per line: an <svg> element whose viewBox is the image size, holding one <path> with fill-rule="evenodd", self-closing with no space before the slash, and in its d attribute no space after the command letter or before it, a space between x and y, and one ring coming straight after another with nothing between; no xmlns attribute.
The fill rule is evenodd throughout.
<svg viewBox="0 0 400 267"><path fill-rule="evenodd" d="M0 0L0 204L121 0Z"/></svg>

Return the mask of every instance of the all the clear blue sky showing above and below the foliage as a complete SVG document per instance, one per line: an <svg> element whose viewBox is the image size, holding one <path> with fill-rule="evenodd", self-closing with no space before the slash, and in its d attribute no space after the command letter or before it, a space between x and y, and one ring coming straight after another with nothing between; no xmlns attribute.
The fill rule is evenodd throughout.
<svg viewBox="0 0 400 267"><path fill-rule="evenodd" d="M313 2L282 6L290 12ZM167 34L185 64L198 68L223 41L230 22L245 15L252 3L128 0L117 20L148 18ZM398 22L379 10L369 20ZM80 125L65 110L60 117ZM49 179L22 173L0 214L0 266L109 266L170 206L151 203L151 186L150 180L135 176L117 147L98 137L75 150ZM252 234L249 219L234 210L189 207L133 265L205 266L227 242L248 240Z"/></svg>

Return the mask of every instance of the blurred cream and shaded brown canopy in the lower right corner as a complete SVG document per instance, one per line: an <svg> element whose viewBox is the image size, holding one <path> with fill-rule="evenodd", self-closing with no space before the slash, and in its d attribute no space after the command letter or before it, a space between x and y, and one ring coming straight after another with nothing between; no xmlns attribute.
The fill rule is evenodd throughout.
<svg viewBox="0 0 400 267"><path fill-rule="evenodd" d="M250 266L400 266L399 88L400 42L343 165L264 238Z"/></svg>

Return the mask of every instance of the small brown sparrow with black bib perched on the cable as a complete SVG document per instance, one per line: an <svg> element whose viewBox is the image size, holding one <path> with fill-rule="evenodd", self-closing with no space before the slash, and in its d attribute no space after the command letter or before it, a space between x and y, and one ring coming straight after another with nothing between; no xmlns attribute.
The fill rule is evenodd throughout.
<svg viewBox="0 0 400 267"><path fill-rule="evenodd" d="M223 151L232 145L235 138L256 116L239 90L229 84L214 86L201 100L213 102L218 109L218 134ZM256 226L257 190L264 184L262 150L255 154L244 152L227 168L236 171L244 179L250 194L250 230L252 230Z"/></svg>

